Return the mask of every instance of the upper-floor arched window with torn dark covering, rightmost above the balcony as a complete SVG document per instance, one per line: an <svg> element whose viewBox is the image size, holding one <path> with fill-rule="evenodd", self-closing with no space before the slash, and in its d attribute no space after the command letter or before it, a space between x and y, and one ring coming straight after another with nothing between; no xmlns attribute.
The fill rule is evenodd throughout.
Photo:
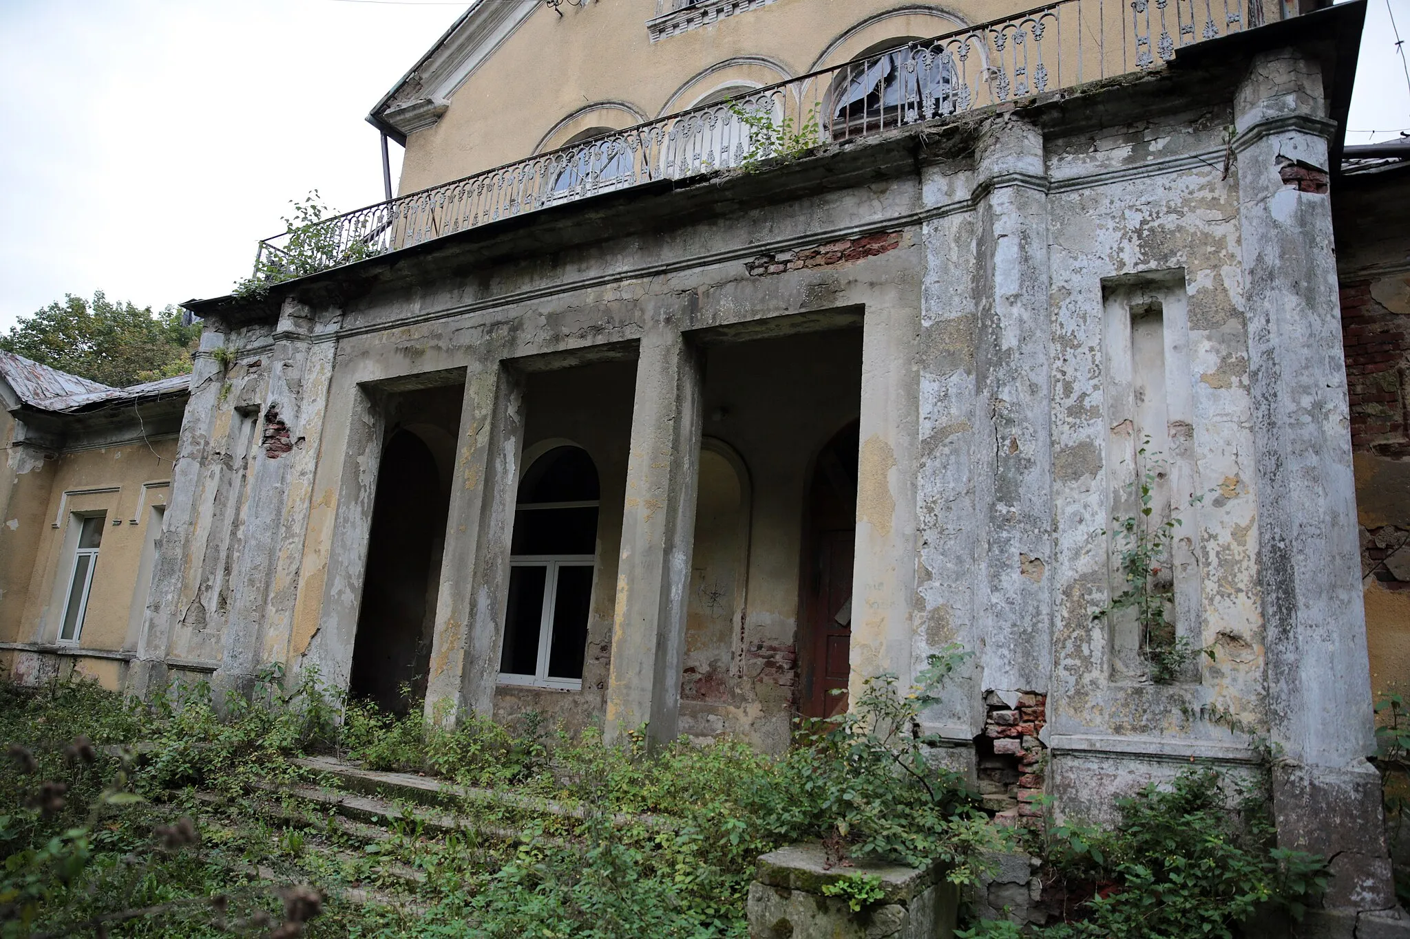
<svg viewBox="0 0 1410 939"><path fill-rule="evenodd" d="M955 110L955 63L924 41L878 42L840 69L828 89L833 139L925 121Z"/></svg>

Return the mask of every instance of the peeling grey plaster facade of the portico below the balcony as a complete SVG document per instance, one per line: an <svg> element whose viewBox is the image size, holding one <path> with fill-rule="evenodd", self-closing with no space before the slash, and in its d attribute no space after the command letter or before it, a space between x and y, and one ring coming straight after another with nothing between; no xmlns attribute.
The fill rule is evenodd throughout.
<svg viewBox="0 0 1410 939"><path fill-rule="evenodd" d="M993 769L973 745L988 712L1021 718L1022 701L1042 701L1042 726L1024 725L1032 733L986 739L1019 759L1019 798L1046 786L1070 815L1110 815L1115 797L1191 760L1245 773L1251 733L1270 733L1294 749L1277 791L1289 842L1311 843L1324 811L1347 807L1354 824L1337 838L1363 849L1348 855L1335 895L1379 895L1362 804L1369 700L1352 674L1365 652L1345 635L1361 625L1318 593L1355 581L1349 519L1323 518L1351 497L1349 449L1335 439L1344 390L1323 370L1340 360L1330 262L1317 253L1330 238L1314 172L1327 128L1316 63L1270 56L1245 80L1246 65L1227 82L1111 86L1072 110L981 113L776 176L618 193L512 220L492 244L472 231L371 262L360 280L330 275L348 282L338 305L314 284L278 324L210 321L171 510L186 538L164 545L142 659L231 686L261 662L316 664L345 684L381 397L462 382L429 710L534 707L575 724L602 717L609 736L650 722L657 741L678 726L740 729L778 748L791 693L752 686L747 655L722 694L701 690L735 639L725 655L725 632L701 622L695 555L705 566L739 557L722 521L737 505L718 477L701 504L719 515L697 528L701 435L747 469L747 586L730 624L742 615L744 649L770 646L781 673L798 642L804 450L857 417L853 694L878 672L909 683L928 655L963 645L973 657L925 715L949 745L939 756ZM1279 124L1277 108L1293 118ZM1231 149L1235 121L1244 137ZM1313 170L1287 173L1282 149ZM1279 239L1297 249L1270 253ZM1316 276L1285 276L1293 256ZM1108 376L1128 352L1110 324L1152 297L1169 415L1153 446L1172 456L1182 519L1176 626L1215 653L1170 684L1117 667L1098 615L1125 587L1108 531L1134 476ZM823 331L859 320L860 369L854 358L842 367ZM818 344L814 358L835 359L845 383L799 377L767 353L808 332L787 342ZM234 349L228 369L221 345ZM1307 349L1317 355L1289 358ZM572 391L574 366L620 370L594 394L630 387L629 420L620 404L592 412L592 396ZM1283 403L1313 400L1317 422L1285 414ZM606 687L595 677L558 695L496 687L515 487L525 453L550 438L595 449L603 479L589 670ZM1283 465L1320 489L1289 489ZM231 583L269 600L240 607ZM709 695L725 704L699 700Z"/></svg>

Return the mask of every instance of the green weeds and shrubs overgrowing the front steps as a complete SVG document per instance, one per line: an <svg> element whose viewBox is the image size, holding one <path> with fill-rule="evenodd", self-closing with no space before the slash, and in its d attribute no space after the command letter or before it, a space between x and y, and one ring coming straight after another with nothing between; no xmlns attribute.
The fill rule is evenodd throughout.
<svg viewBox="0 0 1410 939"><path fill-rule="evenodd" d="M0 686L0 739L13 743L0 788L20 807L0 822L0 929L743 936L754 859L802 839L825 840L838 863L946 860L964 883L1004 835L956 777L926 767L915 722L957 660L936 657L907 694L877 679L783 757L737 742L605 746L536 715L508 728L393 718L336 700L312 672L286 687L266 669L252 700L220 711L204 684L125 704L78 681ZM374 839L279 795L313 777L293 757L314 752L572 811L467 793L455 831L403 809ZM866 895L860 884L856 902Z"/></svg>

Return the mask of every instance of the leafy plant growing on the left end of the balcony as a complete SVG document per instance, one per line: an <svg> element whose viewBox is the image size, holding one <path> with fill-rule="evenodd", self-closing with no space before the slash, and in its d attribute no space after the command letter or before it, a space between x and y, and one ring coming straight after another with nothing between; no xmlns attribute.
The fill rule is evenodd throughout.
<svg viewBox="0 0 1410 939"><path fill-rule="evenodd" d="M338 213L324 206L316 189L302 203L293 200L289 204L293 211L279 220L283 222L285 241L278 246L265 244L254 273L235 282L235 296L258 296L276 283L382 253L376 242L381 232L372 231L372 215L338 225L329 224Z"/></svg>

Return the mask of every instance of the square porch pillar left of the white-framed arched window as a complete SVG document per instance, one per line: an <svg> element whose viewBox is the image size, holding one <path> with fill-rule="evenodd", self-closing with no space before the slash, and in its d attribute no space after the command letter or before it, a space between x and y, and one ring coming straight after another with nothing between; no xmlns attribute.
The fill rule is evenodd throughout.
<svg viewBox="0 0 1410 939"><path fill-rule="evenodd" d="M429 718L447 705L486 718L494 711L522 436L519 376L498 365L498 358L489 367L471 366L436 600Z"/></svg>

